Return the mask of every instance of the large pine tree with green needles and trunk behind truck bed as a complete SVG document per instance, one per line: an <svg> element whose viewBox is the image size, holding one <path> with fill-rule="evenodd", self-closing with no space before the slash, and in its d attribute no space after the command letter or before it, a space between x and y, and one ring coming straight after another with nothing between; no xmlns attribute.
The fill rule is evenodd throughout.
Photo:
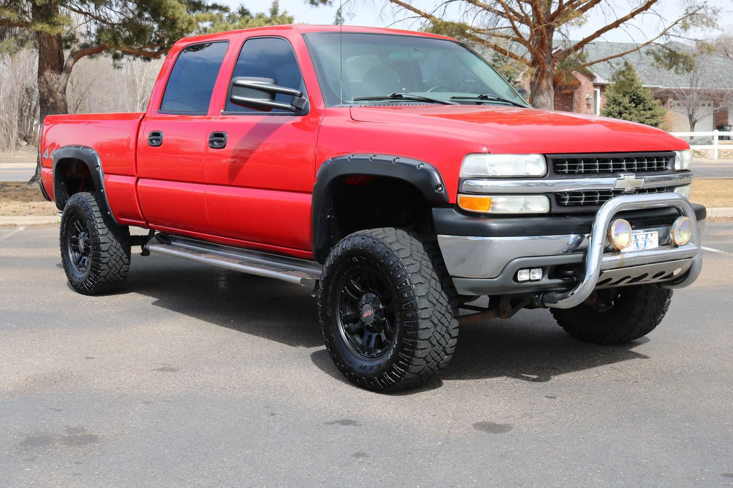
<svg viewBox="0 0 733 488"><path fill-rule="evenodd" d="M66 88L85 56L159 59L191 34L292 23L274 0L268 13L205 0L0 0L0 50L38 50L40 119L67 114ZM113 81L114 83L114 81ZM114 90L114 88L112 88ZM40 166L30 182L40 177Z"/></svg>

